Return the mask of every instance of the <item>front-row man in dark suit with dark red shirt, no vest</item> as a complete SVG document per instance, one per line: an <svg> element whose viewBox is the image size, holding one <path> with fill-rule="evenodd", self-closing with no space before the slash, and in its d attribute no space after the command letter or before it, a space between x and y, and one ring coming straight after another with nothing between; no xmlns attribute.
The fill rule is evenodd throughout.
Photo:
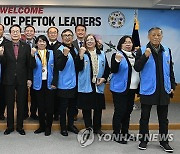
<svg viewBox="0 0 180 154"><path fill-rule="evenodd" d="M0 48L0 62L5 68L3 84L7 104L7 129L4 134L8 135L14 131L14 102L16 98L16 131L20 135L25 135L23 129L25 96L27 86L31 87L32 84L32 71L30 69L31 48L20 41L21 27L19 25L12 25L9 28L9 33L12 41L6 43L4 48Z"/></svg>

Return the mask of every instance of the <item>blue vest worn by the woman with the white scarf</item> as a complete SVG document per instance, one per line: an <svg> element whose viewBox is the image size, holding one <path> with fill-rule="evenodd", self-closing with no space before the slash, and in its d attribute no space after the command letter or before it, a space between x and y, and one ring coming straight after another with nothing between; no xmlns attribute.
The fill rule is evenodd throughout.
<svg viewBox="0 0 180 154"><path fill-rule="evenodd" d="M121 51L119 52L122 54ZM127 89L128 69L129 69L128 62L123 55L123 58L121 59L121 62L119 64L118 72L112 74L112 78L110 80L111 91L122 93Z"/></svg>

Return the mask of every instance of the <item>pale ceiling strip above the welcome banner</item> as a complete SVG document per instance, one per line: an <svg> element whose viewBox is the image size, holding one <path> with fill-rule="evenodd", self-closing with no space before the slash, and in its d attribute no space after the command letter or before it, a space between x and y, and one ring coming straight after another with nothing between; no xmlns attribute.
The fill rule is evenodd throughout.
<svg viewBox="0 0 180 154"><path fill-rule="evenodd" d="M180 9L180 0L1 0L1 5Z"/></svg>

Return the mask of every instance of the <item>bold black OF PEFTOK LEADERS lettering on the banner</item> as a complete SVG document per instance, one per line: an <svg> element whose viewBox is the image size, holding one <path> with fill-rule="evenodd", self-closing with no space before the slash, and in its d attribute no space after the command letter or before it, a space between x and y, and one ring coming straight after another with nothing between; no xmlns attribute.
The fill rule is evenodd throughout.
<svg viewBox="0 0 180 154"><path fill-rule="evenodd" d="M101 26L101 17L56 17L56 16L5 16L1 18L5 26L19 24L33 26Z"/></svg>

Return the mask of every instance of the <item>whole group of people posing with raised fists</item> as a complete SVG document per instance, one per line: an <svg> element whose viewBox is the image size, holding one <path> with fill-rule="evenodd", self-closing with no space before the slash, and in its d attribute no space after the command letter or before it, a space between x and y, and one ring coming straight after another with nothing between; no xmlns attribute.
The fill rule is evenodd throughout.
<svg viewBox="0 0 180 154"><path fill-rule="evenodd" d="M72 30L63 30L62 42L57 40L59 30L56 27L47 30L48 38L39 35L34 39L35 28L28 25L24 30L24 41L21 40L19 25L12 25L9 29L11 41L3 37L3 31L4 26L0 24L1 91L7 105L5 135L14 131L15 100L16 130L25 135L23 119L27 115L25 104L29 88L31 117L39 119L35 134L44 132L49 136L53 118L58 119L59 115L60 133L63 136L68 136L68 131L77 134L79 130L74 125L74 118L78 109L82 110L86 128L92 128L95 134L104 134L101 118L106 107L104 88L110 73L114 103L113 134L122 136L114 140L127 144L136 93L140 94L141 102L139 132L142 138L139 149L147 148L152 105L157 106L159 134L168 135L168 104L176 83L171 50L161 44L163 32L159 27L148 31L149 43L137 50L131 36L120 38L117 52L112 54L111 67L102 44L95 35L86 35L84 25L75 27L76 40L73 40ZM161 140L160 146L166 152L173 152L168 138Z"/></svg>

